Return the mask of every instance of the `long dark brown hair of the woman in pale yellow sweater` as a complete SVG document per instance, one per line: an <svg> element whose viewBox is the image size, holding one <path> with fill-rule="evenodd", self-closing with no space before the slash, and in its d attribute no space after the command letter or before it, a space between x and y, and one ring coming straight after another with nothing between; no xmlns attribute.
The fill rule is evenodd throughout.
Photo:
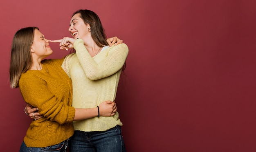
<svg viewBox="0 0 256 152"><path fill-rule="evenodd" d="M101 20L99 19L99 16L93 11L90 11L88 9L79 9L73 13L72 17L78 13L80 13L80 18L83 20L83 22L85 24L90 25L92 40L94 40L94 42L100 47L108 45L105 30L101 24ZM126 62L124 62L124 66L122 70L124 70L125 68L126 68Z"/></svg>

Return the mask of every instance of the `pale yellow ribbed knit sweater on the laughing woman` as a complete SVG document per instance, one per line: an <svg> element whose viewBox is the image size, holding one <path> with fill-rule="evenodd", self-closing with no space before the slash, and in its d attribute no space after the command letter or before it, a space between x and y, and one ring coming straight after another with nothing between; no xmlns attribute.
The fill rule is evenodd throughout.
<svg viewBox="0 0 256 152"><path fill-rule="evenodd" d="M91 57L83 40L74 43L76 53L68 55L62 67L72 79L74 108L95 108L103 101L114 101L117 86L128 55L126 44L111 46ZM99 109L101 110L101 109ZM85 132L105 131L116 125L122 126L118 112L112 117L94 117L73 121L75 130Z"/></svg>

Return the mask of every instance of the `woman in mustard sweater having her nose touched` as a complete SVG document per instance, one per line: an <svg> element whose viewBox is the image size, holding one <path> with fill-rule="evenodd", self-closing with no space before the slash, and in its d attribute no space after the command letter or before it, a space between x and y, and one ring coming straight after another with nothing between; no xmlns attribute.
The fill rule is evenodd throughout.
<svg viewBox="0 0 256 152"><path fill-rule="evenodd" d="M72 82L61 68L63 59L44 59L52 54L49 40L37 27L20 29L11 48L11 88L20 88L24 100L43 115L31 122L20 152L64 152L74 133L72 121L113 116L115 103L104 101L91 108L74 108ZM99 112L99 108L101 109Z"/></svg>

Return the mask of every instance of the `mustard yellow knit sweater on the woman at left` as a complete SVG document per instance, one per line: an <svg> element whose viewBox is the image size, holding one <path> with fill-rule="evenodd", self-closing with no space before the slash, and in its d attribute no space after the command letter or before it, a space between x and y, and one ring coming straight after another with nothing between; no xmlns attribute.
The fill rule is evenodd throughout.
<svg viewBox="0 0 256 152"><path fill-rule="evenodd" d="M45 59L42 70L28 70L19 81L24 100L44 117L32 121L24 142L28 147L56 145L74 134L72 82L61 68L63 59Z"/></svg>

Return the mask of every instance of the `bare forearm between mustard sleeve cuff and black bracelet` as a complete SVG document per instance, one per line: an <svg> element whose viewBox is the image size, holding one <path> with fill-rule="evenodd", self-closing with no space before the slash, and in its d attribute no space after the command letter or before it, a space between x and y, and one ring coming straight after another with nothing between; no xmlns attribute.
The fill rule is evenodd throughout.
<svg viewBox="0 0 256 152"><path fill-rule="evenodd" d="M98 108L97 107L96 108L87 108L87 109L75 108L75 110L76 110L76 113L75 113L74 121L89 119L89 118L98 116Z"/></svg>

